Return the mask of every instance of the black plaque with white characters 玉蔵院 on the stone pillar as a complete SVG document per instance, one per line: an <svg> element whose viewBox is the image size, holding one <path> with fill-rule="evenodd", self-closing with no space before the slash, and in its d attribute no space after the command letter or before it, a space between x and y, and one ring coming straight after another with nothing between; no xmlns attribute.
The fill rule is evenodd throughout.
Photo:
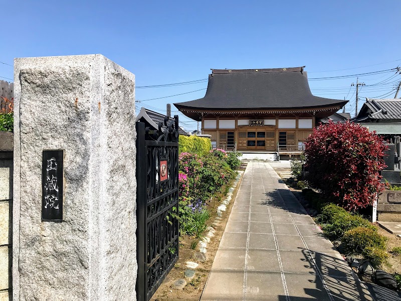
<svg viewBox="0 0 401 301"><path fill-rule="evenodd" d="M64 150L44 150L42 159L42 220L63 220Z"/></svg>

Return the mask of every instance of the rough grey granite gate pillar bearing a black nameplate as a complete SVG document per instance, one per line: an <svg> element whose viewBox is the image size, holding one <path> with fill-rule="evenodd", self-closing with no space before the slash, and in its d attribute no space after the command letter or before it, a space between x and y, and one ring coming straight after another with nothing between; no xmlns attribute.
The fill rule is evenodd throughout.
<svg viewBox="0 0 401 301"><path fill-rule="evenodd" d="M135 300L134 82L102 55L15 60L15 301Z"/></svg>

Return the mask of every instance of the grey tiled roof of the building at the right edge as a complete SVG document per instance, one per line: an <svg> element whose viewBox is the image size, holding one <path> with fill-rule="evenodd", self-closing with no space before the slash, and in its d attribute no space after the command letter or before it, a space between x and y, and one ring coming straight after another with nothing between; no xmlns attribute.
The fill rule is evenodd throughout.
<svg viewBox="0 0 401 301"><path fill-rule="evenodd" d="M354 122L363 119L401 119L401 99L371 99L360 109Z"/></svg>

